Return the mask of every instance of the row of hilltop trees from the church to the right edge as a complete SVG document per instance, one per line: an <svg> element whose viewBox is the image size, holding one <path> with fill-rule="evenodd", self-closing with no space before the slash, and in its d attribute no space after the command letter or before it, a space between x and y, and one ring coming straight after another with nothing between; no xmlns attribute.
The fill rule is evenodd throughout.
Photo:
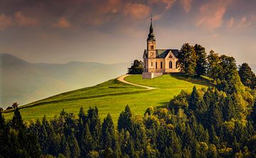
<svg viewBox="0 0 256 158"><path fill-rule="evenodd" d="M188 77L205 75L220 86L232 86L232 83L225 83L225 81L234 83L240 80L245 86L249 86L251 89L256 88L255 74L247 63L237 67L234 57L218 55L213 50L210 50L207 55L206 48L202 45L193 46L184 43L178 53L178 64L181 72ZM226 88L233 89L234 87Z"/></svg>

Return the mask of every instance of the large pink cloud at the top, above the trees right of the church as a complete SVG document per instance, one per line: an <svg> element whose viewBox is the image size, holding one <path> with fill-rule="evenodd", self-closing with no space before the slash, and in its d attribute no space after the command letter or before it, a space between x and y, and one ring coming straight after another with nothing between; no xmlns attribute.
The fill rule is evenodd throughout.
<svg viewBox="0 0 256 158"><path fill-rule="evenodd" d="M223 24L223 17L227 11L227 6L231 1L210 1L203 4L199 9L199 16L196 26L213 30Z"/></svg>

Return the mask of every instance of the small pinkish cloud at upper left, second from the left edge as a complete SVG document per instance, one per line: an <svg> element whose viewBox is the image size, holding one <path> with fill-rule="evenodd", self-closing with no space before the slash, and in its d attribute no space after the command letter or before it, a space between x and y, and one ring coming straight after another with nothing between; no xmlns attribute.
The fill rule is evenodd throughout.
<svg viewBox="0 0 256 158"><path fill-rule="evenodd" d="M37 26L39 24L38 19L24 16L21 11L14 13L14 18L18 26Z"/></svg>

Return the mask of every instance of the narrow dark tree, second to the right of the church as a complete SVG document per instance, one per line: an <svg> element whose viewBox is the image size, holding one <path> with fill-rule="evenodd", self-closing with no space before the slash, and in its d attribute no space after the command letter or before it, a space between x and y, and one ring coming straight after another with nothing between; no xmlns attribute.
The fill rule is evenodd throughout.
<svg viewBox="0 0 256 158"><path fill-rule="evenodd" d="M206 48L196 44L194 46L194 49L196 51L196 74L198 76L206 74L206 67L207 67L207 62L206 62Z"/></svg>

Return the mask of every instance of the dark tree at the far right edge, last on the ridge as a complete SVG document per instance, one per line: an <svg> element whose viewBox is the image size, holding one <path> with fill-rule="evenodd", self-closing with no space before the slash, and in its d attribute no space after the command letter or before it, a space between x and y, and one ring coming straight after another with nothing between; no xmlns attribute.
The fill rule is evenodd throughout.
<svg viewBox="0 0 256 158"><path fill-rule="evenodd" d="M252 72L252 69L247 63L242 63L242 65L239 66L238 74L242 84L249 86L251 89L256 88L255 73Z"/></svg>

